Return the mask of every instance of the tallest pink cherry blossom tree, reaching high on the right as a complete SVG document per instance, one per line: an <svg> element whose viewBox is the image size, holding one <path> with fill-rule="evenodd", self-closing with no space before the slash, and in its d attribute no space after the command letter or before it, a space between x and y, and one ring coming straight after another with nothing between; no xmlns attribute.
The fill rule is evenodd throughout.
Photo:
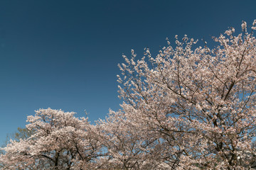
<svg viewBox="0 0 256 170"><path fill-rule="evenodd" d="M248 33L242 22L238 35L230 28L214 38L219 45L213 49L194 47L197 41L185 35L156 57L149 49L137 61L134 50L131 59L123 56L118 81L126 120L158 133L161 157L175 169L254 166L255 25Z"/></svg>

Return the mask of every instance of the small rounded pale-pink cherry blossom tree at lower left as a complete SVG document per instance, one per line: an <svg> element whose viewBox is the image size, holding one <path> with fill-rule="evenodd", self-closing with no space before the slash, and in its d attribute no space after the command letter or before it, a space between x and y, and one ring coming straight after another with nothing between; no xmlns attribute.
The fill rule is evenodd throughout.
<svg viewBox="0 0 256 170"><path fill-rule="evenodd" d="M28 139L11 140L1 155L3 169L91 169L97 157L97 137L86 118L73 112L40 109L28 116Z"/></svg>

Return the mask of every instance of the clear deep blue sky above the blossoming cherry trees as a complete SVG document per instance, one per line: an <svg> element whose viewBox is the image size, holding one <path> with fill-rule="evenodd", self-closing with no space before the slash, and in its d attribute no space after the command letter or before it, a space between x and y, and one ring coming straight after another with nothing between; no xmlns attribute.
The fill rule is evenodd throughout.
<svg viewBox="0 0 256 170"><path fill-rule="evenodd" d="M174 35L211 41L256 18L256 1L1 0L0 143L39 108L117 110L117 64ZM208 43L214 45L213 43Z"/></svg>

